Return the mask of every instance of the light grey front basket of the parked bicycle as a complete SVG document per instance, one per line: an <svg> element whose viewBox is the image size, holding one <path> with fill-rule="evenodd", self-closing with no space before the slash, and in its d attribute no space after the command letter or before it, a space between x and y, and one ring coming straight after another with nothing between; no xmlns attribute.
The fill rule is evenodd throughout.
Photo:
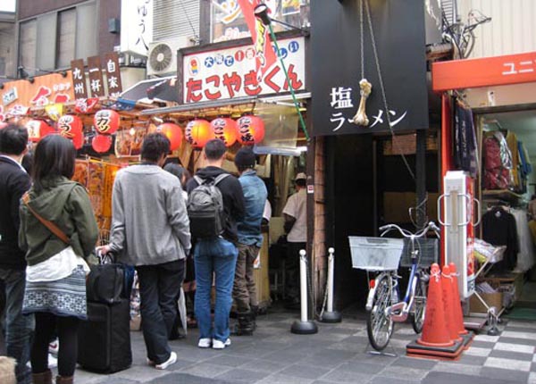
<svg viewBox="0 0 536 384"><path fill-rule="evenodd" d="M349 236L352 267L365 271L396 271L404 242L401 238Z"/></svg>

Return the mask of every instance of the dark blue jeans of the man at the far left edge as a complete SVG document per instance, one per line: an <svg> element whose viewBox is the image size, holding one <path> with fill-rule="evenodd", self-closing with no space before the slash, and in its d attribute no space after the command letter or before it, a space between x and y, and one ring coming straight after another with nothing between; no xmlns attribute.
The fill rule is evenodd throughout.
<svg viewBox="0 0 536 384"><path fill-rule="evenodd" d="M0 280L5 285L5 345L7 355L17 361L17 383L30 383L29 350L34 330L33 314L22 314L26 287L26 271L0 269Z"/></svg>

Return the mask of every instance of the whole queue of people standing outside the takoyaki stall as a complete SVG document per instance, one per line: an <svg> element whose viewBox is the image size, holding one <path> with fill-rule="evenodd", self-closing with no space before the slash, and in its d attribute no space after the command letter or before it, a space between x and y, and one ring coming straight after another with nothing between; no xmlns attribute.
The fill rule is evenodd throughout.
<svg viewBox="0 0 536 384"><path fill-rule="evenodd" d="M197 346L230 346L233 300L238 313L233 334L254 332L253 265L263 242L267 190L250 147L235 155L236 178L222 169L224 143L209 141L205 167L189 178L180 165L165 164L169 139L147 135L141 163L117 172L110 242L95 248L98 229L88 193L71 181L76 158L71 141L59 135L42 138L31 174L21 165L27 143L27 129L16 124L0 129L0 283L6 296L6 352L17 360L17 382L52 383L47 359L54 336L59 339L55 382L73 382L77 330L88 316L86 277L88 265L96 263L95 250L113 253L136 269L147 363L156 369L177 361L169 340L177 330L177 301L188 274L189 282L195 280ZM302 246L305 222L296 223L305 221L305 175L298 174L296 181L300 190L284 213L289 241ZM212 235L200 230L203 216L193 213L201 192L213 194L211 202L222 205L222 222L215 219Z"/></svg>

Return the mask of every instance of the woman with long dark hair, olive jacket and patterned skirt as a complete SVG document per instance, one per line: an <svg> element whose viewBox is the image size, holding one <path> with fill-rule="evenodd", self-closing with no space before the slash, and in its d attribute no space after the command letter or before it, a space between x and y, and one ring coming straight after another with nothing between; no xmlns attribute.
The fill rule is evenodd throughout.
<svg viewBox="0 0 536 384"><path fill-rule="evenodd" d="M57 330L56 383L71 384L76 368L80 320L87 319L86 275L98 237L95 213L84 186L71 181L76 149L71 140L49 135L35 151L33 186L21 204L19 245L26 251L23 313L34 313L31 370L36 384L52 383L48 344ZM39 218L40 217L40 218ZM69 244L40 219L54 225Z"/></svg>

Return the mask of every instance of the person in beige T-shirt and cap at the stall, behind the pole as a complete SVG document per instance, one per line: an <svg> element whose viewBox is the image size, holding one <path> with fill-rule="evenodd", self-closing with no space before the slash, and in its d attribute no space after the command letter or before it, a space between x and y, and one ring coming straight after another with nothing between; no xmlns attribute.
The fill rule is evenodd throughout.
<svg viewBox="0 0 536 384"><path fill-rule="evenodd" d="M283 216L284 229L288 233L289 251L287 257L287 272L289 278L290 305L297 305L299 300L299 251L306 249L307 241L307 206L306 206L306 174L299 172L294 179L296 193L289 197Z"/></svg>

